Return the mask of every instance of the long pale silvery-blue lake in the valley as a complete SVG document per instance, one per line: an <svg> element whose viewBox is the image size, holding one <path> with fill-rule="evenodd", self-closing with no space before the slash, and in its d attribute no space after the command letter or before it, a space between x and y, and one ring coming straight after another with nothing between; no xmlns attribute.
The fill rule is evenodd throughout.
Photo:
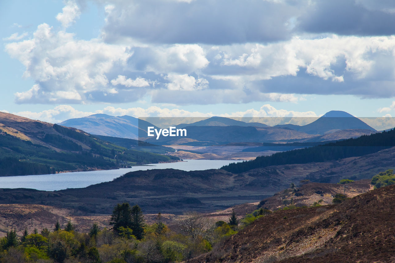
<svg viewBox="0 0 395 263"><path fill-rule="evenodd" d="M108 182L132 171L145 171L148 169L180 169L196 171L218 169L235 160L184 160L177 163L155 163L149 166L134 166L116 170L58 173L54 175L24 175L0 177L0 188L32 188L37 190L54 191L66 188L83 188L91 184Z"/></svg>

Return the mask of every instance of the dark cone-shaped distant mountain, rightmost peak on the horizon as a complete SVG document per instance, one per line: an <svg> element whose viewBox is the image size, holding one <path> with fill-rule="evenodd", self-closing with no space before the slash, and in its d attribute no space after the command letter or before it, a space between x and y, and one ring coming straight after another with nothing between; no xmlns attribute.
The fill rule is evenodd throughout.
<svg viewBox="0 0 395 263"><path fill-rule="evenodd" d="M315 120L314 122L304 126L294 124L282 124L276 125L275 127L290 128L295 131L319 135L324 135L325 133L333 132L336 130L360 129L376 131L374 128L367 125L359 118L356 118L351 114L346 113L345 111L329 111L318 120Z"/></svg>

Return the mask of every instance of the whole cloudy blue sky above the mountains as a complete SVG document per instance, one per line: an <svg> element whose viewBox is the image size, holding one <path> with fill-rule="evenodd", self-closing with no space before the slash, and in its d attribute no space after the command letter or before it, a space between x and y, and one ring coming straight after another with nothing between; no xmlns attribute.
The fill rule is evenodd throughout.
<svg viewBox="0 0 395 263"><path fill-rule="evenodd" d="M392 0L0 1L0 111L395 126ZM384 119L383 119L384 120Z"/></svg>

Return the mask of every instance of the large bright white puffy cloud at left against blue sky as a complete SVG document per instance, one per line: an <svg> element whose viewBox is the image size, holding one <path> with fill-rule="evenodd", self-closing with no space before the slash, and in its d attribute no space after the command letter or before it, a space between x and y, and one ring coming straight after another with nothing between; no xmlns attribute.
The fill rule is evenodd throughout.
<svg viewBox="0 0 395 263"><path fill-rule="evenodd" d="M83 103L88 92L107 89L106 73L131 55L126 46L75 40L73 34L53 32L47 24L39 25L33 36L6 45L6 51L26 67L24 77L37 83L15 93L17 103Z"/></svg>

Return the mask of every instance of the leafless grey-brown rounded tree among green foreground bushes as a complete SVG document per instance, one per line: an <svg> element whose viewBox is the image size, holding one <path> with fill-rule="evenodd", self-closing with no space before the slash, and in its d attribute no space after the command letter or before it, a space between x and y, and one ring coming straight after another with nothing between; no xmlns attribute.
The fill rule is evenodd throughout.
<svg viewBox="0 0 395 263"><path fill-rule="evenodd" d="M209 237L213 232L214 222L197 212L186 212L178 220L177 224L181 232L189 235L193 240L201 236Z"/></svg>

